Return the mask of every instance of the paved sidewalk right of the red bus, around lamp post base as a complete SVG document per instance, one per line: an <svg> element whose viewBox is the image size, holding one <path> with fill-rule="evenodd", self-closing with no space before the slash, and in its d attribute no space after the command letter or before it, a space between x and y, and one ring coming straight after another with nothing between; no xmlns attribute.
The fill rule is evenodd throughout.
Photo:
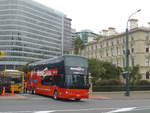
<svg viewBox="0 0 150 113"><path fill-rule="evenodd" d="M130 91L130 96L124 92L92 92L91 99L150 99L150 91Z"/></svg>

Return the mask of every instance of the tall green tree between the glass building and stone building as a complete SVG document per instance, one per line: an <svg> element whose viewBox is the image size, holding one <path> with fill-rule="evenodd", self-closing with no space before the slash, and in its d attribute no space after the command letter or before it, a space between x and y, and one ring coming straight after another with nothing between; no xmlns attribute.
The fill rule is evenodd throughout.
<svg viewBox="0 0 150 113"><path fill-rule="evenodd" d="M84 48L84 42L80 39L80 37L77 37L74 41L74 53L77 55L79 54L79 50Z"/></svg>

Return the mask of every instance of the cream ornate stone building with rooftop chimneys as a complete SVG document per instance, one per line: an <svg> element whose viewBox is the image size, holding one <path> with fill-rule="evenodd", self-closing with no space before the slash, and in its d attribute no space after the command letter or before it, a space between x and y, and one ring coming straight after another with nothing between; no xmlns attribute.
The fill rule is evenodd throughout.
<svg viewBox="0 0 150 113"><path fill-rule="evenodd" d="M99 40L88 43L80 55L124 67L125 38L125 32L116 33L114 28L103 30ZM135 19L130 21L129 50L129 65L140 65L142 79L150 79L150 27L138 27Z"/></svg>

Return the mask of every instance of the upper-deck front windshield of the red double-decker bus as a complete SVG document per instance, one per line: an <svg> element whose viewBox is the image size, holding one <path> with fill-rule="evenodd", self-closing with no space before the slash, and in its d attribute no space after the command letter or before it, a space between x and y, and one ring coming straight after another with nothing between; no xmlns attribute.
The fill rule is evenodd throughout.
<svg viewBox="0 0 150 113"><path fill-rule="evenodd" d="M82 58L82 57L67 56L65 58L65 65L66 66L88 67L88 62L87 62L87 59Z"/></svg>

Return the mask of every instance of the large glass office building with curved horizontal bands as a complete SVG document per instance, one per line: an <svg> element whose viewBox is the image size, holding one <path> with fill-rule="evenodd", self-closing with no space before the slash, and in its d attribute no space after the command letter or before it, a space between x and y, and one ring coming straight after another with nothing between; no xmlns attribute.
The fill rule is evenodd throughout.
<svg viewBox="0 0 150 113"><path fill-rule="evenodd" d="M32 0L0 0L0 51L6 53L0 70L62 55L65 34L71 36L71 19L63 13Z"/></svg>

